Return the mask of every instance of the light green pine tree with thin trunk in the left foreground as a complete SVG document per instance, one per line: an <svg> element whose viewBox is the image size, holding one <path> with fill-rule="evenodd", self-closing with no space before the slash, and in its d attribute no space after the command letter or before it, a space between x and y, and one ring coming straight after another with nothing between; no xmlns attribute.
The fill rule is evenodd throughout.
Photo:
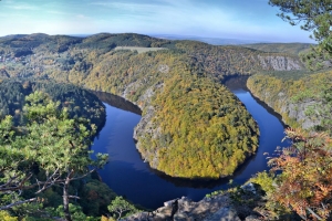
<svg viewBox="0 0 332 221"><path fill-rule="evenodd" d="M94 125L83 118L70 118L66 109L59 109L46 94L35 92L27 96L25 124L14 127L12 117L0 122L0 192L15 196L13 202L2 202L0 210L38 201L39 198L19 198L22 191L35 194L58 185L63 189L63 211L69 210L71 181L82 179L103 167L107 155L96 155L92 160L89 147L95 133Z"/></svg>

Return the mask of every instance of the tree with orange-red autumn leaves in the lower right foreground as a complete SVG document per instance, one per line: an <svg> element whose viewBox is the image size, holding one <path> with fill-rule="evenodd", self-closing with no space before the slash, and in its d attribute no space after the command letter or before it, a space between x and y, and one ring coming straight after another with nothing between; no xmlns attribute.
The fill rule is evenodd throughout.
<svg viewBox="0 0 332 221"><path fill-rule="evenodd" d="M295 211L303 220L326 220L332 214L332 139L287 129L292 146L271 158L277 177L270 199Z"/></svg>

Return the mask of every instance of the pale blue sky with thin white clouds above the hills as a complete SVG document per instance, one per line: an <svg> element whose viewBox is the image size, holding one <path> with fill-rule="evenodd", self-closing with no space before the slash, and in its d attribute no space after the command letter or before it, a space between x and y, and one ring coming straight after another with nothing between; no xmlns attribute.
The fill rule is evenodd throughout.
<svg viewBox="0 0 332 221"><path fill-rule="evenodd" d="M0 36L141 33L311 42L268 0L0 0Z"/></svg>

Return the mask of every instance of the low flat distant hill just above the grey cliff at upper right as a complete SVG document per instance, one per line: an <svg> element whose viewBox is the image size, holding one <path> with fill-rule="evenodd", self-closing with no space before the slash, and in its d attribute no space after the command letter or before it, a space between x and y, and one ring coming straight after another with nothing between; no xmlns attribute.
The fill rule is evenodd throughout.
<svg viewBox="0 0 332 221"><path fill-rule="evenodd" d="M243 44L249 49L255 49L263 52L274 52L274 53L287 53L299 55L301 52L305 52L310 49L310 43L256 43L256 44Z"/></svg>

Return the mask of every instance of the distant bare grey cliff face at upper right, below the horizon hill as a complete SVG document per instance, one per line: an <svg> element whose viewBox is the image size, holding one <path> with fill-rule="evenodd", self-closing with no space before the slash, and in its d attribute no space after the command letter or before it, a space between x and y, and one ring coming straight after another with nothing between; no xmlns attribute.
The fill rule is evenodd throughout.
<svg viewBox="0 0 332 221"><path fill-rule="evenodd" d="M261 56L258 55L258 60L263 70L273 71L292 71L302 70L302 64L298 59L292 59L290 56Z"/></svg>

